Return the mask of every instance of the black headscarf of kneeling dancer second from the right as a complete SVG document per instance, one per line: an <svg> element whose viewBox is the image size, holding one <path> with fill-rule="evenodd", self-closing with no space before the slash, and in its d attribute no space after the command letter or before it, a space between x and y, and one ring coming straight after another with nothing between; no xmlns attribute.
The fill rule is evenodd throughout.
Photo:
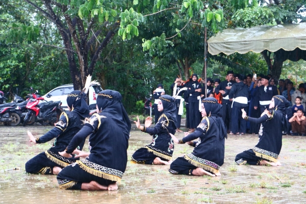
<svg viewBox="0 0 306 204"><path fill-rule="evenodd" d="M208 117L212 119L218 126L216 134L219 135L221 139L224 137L227 138L226 127L222 120L222 105L218 104L218 100L214 97L202 99L202 104L206 113L208 114Z"/></svg>

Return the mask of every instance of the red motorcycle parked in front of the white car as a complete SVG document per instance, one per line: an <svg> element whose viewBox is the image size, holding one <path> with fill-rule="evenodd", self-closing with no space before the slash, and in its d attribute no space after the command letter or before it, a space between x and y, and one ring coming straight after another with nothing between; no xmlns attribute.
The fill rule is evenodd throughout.
<svg viewBox="0 0 306 204"><path fill-rule="evenodd" d="M31 88L31 90L33 90ZM44 100L43 97L37 94L36 90L34 93L29 94L30 99L28 100L27 108L29 111L27 115L24 117L23 126L31 125L35 122L39 122L41 124L49 123L53 125L58 122L63 109L61 107L61 101L49 101Z"/></svg>

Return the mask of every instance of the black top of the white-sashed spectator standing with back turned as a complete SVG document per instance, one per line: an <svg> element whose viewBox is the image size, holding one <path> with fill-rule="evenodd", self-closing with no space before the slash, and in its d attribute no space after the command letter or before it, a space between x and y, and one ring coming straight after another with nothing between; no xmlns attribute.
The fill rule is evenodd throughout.
<svg viewBox="0 0 306 204"><path fill-rule="evenodd" d="M249 96L249 88L245 84L243 84L243 82L235 83L230 89L230 93L228 94L228 97L230 98L246 97L246 100L248 96ZM247 107L248 105L234 101L233 106Z"/></svg>

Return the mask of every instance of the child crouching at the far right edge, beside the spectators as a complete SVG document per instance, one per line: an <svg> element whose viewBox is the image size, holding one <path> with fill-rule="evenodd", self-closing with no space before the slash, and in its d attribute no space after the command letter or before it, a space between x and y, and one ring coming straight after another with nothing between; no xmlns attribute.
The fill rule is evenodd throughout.
<svg viewBox="0 0 306 204"><path fill-rule="evenodd" d="M306 136L306 117L304 111L297 109L297 112L289 119L292 126L292 136Z"/></svg>

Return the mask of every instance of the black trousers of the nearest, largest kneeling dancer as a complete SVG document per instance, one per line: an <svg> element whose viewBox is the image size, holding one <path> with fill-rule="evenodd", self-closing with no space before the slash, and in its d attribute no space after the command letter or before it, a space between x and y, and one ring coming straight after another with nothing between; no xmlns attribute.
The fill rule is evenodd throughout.
<svg viewBox="0 0 306 204"><path fill-rule="evenodd" d="M90 183L91 181L95 181L102 186L116 183L115 181L103 179L102 177L86 172L77 163L73 163L63 168L63 170L57 175L57 180L60 186L67 182L76 182L75 185L67 188L73 190L81 190L83 183Z"/></svg>

